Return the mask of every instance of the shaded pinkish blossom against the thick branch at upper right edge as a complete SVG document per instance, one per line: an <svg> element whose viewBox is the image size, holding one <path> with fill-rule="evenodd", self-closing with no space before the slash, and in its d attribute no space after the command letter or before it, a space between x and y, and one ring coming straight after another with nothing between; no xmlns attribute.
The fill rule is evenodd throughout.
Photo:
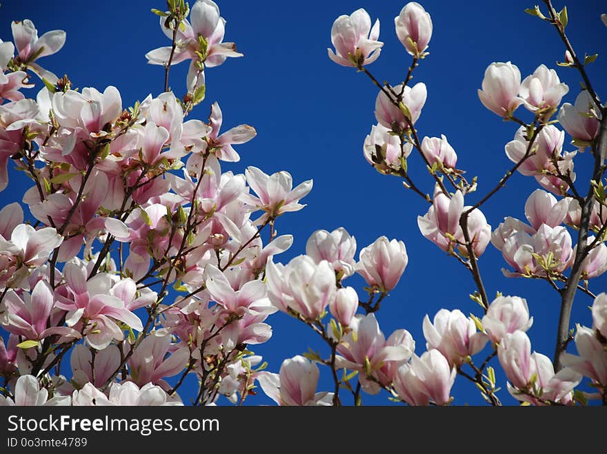
<svg viewBox="0 0 607 454"><path fill-rule="evenodd" d="M589 116L591 111L599 115L599 118ZM586 90L577 95L575 104L564 103L557 115L557 120L570 136L588 142L599 133L600 118L600 110Z"/></svg>

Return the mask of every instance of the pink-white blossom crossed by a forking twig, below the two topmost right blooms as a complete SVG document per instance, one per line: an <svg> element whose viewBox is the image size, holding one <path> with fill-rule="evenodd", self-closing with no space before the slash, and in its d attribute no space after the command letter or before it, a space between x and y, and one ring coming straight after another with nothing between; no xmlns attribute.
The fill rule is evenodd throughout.
<svg viewBox="0 0 607 454"><path fill-rule="evenodd" d="M386 87L388 92L396 92L401 94L402 105L406 109L401 109L392 102L392 95L388 97L384 90L379 90L377 99L375 99L375 118L380 125L388 129L399 132L407 130L415 124L417 118L421 115L421 109L426 104L428 92L426 84L423 82L416 83L413 87L402 85L396 87ZM406 116L404 110L408 110Z"/></svg>

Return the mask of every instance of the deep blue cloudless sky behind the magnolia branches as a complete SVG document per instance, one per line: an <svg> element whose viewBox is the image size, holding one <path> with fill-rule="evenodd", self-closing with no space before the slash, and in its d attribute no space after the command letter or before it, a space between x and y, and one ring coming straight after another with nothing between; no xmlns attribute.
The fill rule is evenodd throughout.
<svg viewBox="0 0 607 454"><path fill-rule="evenodd" d="M286 262L303 254L308 236L316 229L346 227L356 237L359 249L381 235L404 240L409 265L400 285L383 303L378 318L386 337L395 329L408 329L417 341L416 353L421 354L425 351L421 322L426 313L432 318L445 307L481 316L481 309L468 298L475 290L474 282L456 260L419 234L417 216L427 210L423 200L407 192L398 178L381 176L366 163L362 144L376 123L373 110L377 89L364 74L332 63L326 51L332 22L339 14L366 8L372 21L379 18L380 41L385 43L379 60L367 68L380 81L399 83L410 65L410 56L397 40L393 20L405 3L220 1L221 15L227 20L225 41L235 41L245 56L206 71L206 101L190 118L206 120L210 104L219 101L223 130L241 123L256 128L257 137L237 147L241 162L223 165L225 170L243 172L246 166L255 165L266 173L287 170L296 184L314 179L314 189L304 198L308 206L283 216L277 223L279 234L295 236L290 251L277 261ZM599 15L607 12L607 7L601 3L567 3L568 36L581 55L600 54L603 50L599 43L607 39L607 28ZM511 166L504 145L517 129L517 125L504 123L481 105L477 89L486 67L493 61L512 61L525 77L545 63L557 69L561 81L569 85L564 101L571 103L579 91L580 78L575 70L557 67L555 62L563 60L564 48L555 30L523 12L533 8L533 1L426 0L422 5L432 16L434 32L428 48L430 56L415 70L412 81L424 81L428 87L428 101L416 123L418 134L420 138L445 134L458 154L458 167L466 169L467 176L479 176L479 190L466 198L466 203L472 205ZM561 1L555 4L557 9L562 6ZM107 85L115 85L127 107L149 93L156 96L163 90L163 68L148 65L144 58L149 50L169 44L150 8L165 9L165 4L161 0L105 0L59 6L46 1L8 0L2 2L0 9L0 38L11 40L10 21L26 18L34 21L39 34L66 30L63 50L42 59L41 65L59 76L66 72L75 87L92 86L102 91ZM186 71L187 63L171 70L170 85L177 96L185 92ZM603 54L588 67L588 72L597 92L605 96L607 64ZM34 97L41 86L34 80L37 88L26 91L26 96ZM530 119L522 107L517 113ZM571 145L565 148L573 150ZM588 153L576 158L579 180L588 175L590 161ZM433 185L419 156L412 155L408 165L417 185L431 193ZM20 201L28 187L29 180L11 172L10 187L0 194L0 204ZM524 219L524 202L535 189L533 178L513 176L508 187L483 207L492 228L505 216ZM505 278L500 271L505 266L501 253L489 245L480 267L490 298L496 291L526 298L535 320L528 332L532 348L552 357L559 313L557 293L546 282ZM364 298L361 279L350 278L346 283L360 289L359 296ZM590 281L590 288L595 293L606 291L607 278ZM588 296L578 296L573 322L591 324L587 308L591 303ZM285 314L277 313L268 321L274 336L254 350L270 363L270 371L278 371L283 359L306 351L308 346L324 347L310 329ZM479 362L488 353L487 347L479 354ZM497 361L493 365L496 364ZM328 371L321 376L319 390L329 390ZM502 373L498 374L498 382L503 386L501 400L515 404L506 391ZM195 386L194 380L188 386ZM185 387L181 389L185 402L190 393ZM452 395L454 404L483 402L475 386L464 378L457 379ZM263 395L248 399L249 404L268 402ZM344 402L350 403L346 395ZM386 393L364 396L364 402L390 403Z"/></svg>

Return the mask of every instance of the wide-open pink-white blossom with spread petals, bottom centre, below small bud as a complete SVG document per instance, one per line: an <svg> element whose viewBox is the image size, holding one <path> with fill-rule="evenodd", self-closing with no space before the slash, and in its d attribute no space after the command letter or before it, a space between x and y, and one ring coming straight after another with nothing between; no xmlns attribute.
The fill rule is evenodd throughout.
<svg viewBox="0 0 607 454"><path fill-rule="evenodd" d="M382 384L390 384L396 369L411 358L415 351L415 341L404 329L398 329L386 340L373 313L356 316L350 322L350 328L352 331L337 345L341 356L336 358L336 364L338 367L359 371L362 389L377 394L380 387L370 377Z"/></svg>

